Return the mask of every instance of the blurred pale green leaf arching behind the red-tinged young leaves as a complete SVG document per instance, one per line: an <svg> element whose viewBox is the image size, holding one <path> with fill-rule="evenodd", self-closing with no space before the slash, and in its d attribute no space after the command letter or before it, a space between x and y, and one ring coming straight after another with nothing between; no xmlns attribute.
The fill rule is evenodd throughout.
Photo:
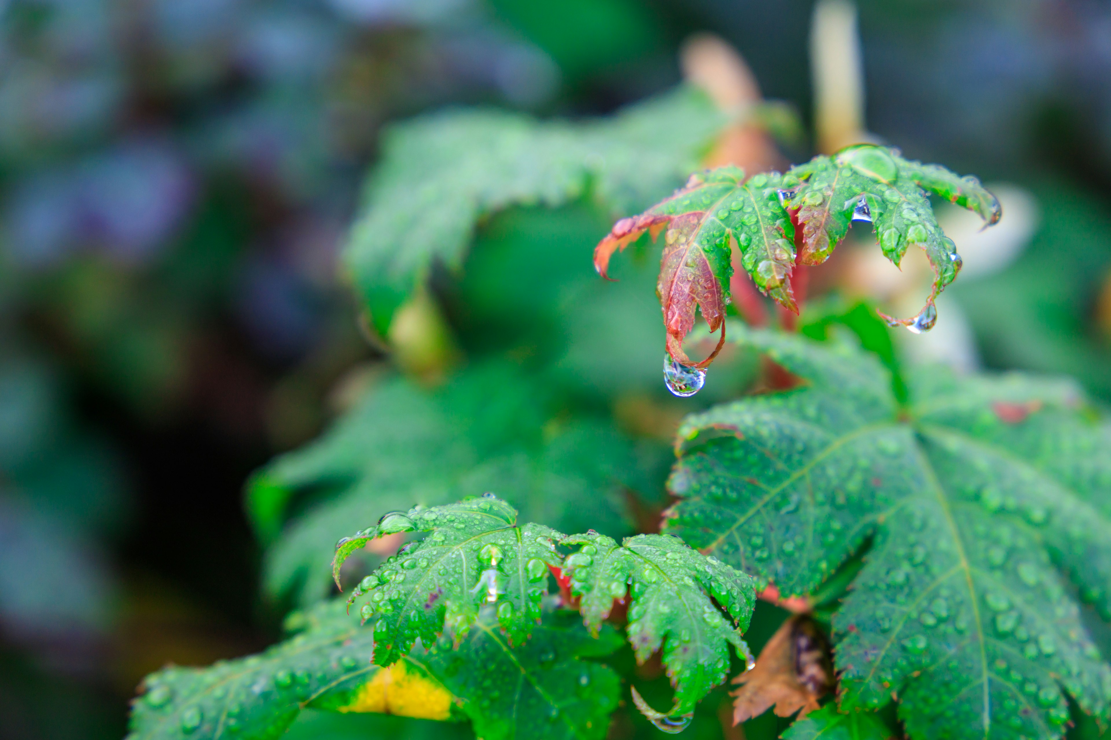
<svg viewBox="0 0 1111 740"><path fill-rule="evenodd" d="M448 111L394 126L344 261L386 336L436 261L463 262L476 223L514 204L593 194L614 212L644 207L697 166L727 116L681 89L587 123L494 110Z"/></svg>

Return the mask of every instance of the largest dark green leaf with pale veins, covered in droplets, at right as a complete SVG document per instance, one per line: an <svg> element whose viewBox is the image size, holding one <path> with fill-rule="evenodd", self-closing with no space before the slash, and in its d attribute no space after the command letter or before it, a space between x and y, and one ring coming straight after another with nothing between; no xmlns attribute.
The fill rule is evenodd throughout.
<svg viewBox="0 0 1111 740"><path fill-rule="evenodd" d="M1065 692L1105 717L1072 589L1111 614L1111 432L1077 388L930 367L900 406L859 349L735 333L803 385L683 423L665 530L784 596L870 541L833 617L842 706L898 696L911 738L1058 738Z"/></svg>

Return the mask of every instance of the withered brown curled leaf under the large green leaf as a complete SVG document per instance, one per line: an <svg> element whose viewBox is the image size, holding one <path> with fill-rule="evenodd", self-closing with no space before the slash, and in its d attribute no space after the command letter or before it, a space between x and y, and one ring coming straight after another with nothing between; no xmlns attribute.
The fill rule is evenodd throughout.
<svg viewBox="0 0 1111 740"><path fill-rule="evenodd" d="M833 685L829 648L813 621L803 616L783 622L757 658L752 670L733 679L733 723L759 717L774 706L778 717L799 719L819 708Z"/></svg>

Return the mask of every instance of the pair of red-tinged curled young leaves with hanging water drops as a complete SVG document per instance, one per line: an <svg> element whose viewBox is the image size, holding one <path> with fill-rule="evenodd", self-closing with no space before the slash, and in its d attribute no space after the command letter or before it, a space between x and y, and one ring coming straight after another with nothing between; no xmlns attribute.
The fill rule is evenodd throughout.
<svg viewBox="0 0 1111 740"><path fill-rule="evenodd" d="M711 332L722 326L732 245L740 250L741 264L757 286L797 312L791 287L795 261L824 262L855 216L874 224L883 254L895 265L911 244L925 252L934 271L925 307L914 318L889 321L929 328L935 316L933 301L955 277L961 259L938 226L923 189L975 211L988 224L1001 215L999 201L975 178L959 178L938 165L904 160L894 150L859 144L833 156L815 156L782 175L760 173L745 181L735 166L694 174L671 197L618 221L594 250L594 267L604 276L613 252L645 231L653 236L662 231L657 292L668 352L695 365L683 353L682 342L694 325L695 306ZM717 349L697 365L708 365L715 355Z"/></svg>

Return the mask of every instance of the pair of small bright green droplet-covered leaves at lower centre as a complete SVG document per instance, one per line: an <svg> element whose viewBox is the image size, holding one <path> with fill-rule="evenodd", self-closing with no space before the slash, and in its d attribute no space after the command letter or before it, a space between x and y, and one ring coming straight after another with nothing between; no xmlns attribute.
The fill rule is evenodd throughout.
<svg viewBox="0 0 1111 740"><path fill-rule="evenodd" d="M549 566L568 570L574 592L584 597L580 608L585 624L595 635L614 599L632 586L629 640L640 662L663 648L677 711L692 709L725 679L728 645L751 662L740 631L748 628L754 606L752 579L679 539L641 535L619 547L593 531L567 537L541 525L519 527L517 511L486 494L448 506L393 511L341 539L332 566L337 579L348 556L400 531L432 534L363 578L349 601L370 594L360 615L364 621L377 618L379 665L407 655L418 638L427 645L446 629L458 638L483 606L494 608L510 642L522 643L540 619ZM564 561L557 541L581 547ZM708 595L727 609L732 622Z"/></svg>

